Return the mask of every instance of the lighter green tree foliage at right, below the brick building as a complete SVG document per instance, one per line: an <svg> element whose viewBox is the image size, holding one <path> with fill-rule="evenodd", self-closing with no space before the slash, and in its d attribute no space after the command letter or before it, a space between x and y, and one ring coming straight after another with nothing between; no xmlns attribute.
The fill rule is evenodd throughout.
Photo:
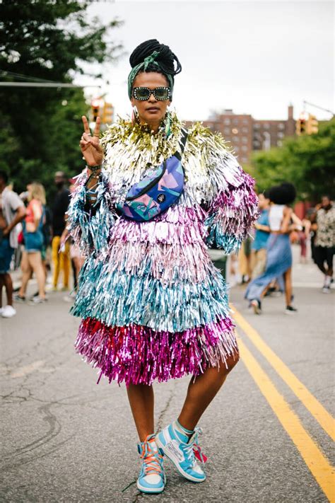
<svg viewBox="0 0 335 503"><path fill-rule="evenodd" d="M261 191L288 181L298 199L317 202L324 192L335 196L334 168L335 118L320 124L317 134L287 138L281 148L254 153L251 173Z"/></svg>

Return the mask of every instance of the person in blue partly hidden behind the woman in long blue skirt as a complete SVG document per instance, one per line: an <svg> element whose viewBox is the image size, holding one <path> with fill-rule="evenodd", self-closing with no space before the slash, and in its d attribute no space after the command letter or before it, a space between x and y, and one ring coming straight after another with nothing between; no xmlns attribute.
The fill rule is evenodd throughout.
<svg viewBox="0 0 335 503"><path fill-rule="evenodd" d="M252 279L262 274L266 266L266 243L270 236L269 227L269 193L264 192L258 195L259 219L254 224L256 233L252 243L251 270Z"/></svg>

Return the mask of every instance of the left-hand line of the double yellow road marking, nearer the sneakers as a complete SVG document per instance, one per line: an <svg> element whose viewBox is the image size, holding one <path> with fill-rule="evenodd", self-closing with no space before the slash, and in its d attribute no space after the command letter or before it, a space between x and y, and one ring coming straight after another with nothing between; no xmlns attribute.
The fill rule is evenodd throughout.
<svg viewBox="0 0 335 503"><path fill-rule="evenodd" d="M239 339L238 345L240 347L242 362L247 367L255 383L257 383L261 393L263 393L272 410L278 417L278 420L283 425L283 428L286 429L290 439L292 439L297 447L302 459L305 461L312 475L317 480L317 483L329 499L329 502L334 503L334 471L327 458L325 458L317 444L315 444L315 441L306 432L298 416L295 415L295 412L290 409L286 400L278 393L269 376L261 369L261 366L249 352L249 349L247 349L242 340Z"/></svg>

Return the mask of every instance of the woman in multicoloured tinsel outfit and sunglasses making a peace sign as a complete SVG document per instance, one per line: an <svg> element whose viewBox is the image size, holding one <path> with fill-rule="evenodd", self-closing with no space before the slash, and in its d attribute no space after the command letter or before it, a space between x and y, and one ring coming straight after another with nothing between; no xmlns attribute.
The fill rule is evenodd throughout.
<svg viewBox="0 0 335 503"><path fill-rule="evenodd" d="M188 480L206 478L196 461L204 461L196 424L238 360L225 282L207 248L240 247L257 219L257 197L219 134L199 123L186 132L168 111L181 71L170 48L148 40L130 64L132 121L119 120L99 141L99 120L91 136L83 117L87 169L69 230L88 258L72 313L83 318L78 353L100 376L126 383L140 440L137 486L156 493L165 486L164 455ZM155 183L159 166L166 170ZM139 194L139 187L148 195L131 206L129 190ZM160 211L171 195L173 204ZM155 434L153 381L187 374L179 417Z"/></svg>

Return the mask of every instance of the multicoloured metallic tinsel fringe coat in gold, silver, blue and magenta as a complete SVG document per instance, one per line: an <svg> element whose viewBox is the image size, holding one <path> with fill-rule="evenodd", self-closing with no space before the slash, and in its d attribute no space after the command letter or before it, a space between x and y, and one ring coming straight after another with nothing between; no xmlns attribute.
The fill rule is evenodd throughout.
<svg viewBox="0 0 335 503"><path fill-rule="evenodd" d="M76 350L109 381L196 376L238 352L208 246L238 250L257 219L257 197L221 135L200 123L189 129L184 192L164 214L138 223L115 209L131 185L180 151L181 128L175 115L167 138L163 127L151 134L119 120L102 138L96 204L86 202L83 174L69 207L69 229L87 256L71 309L83 318Z"/></svg>

